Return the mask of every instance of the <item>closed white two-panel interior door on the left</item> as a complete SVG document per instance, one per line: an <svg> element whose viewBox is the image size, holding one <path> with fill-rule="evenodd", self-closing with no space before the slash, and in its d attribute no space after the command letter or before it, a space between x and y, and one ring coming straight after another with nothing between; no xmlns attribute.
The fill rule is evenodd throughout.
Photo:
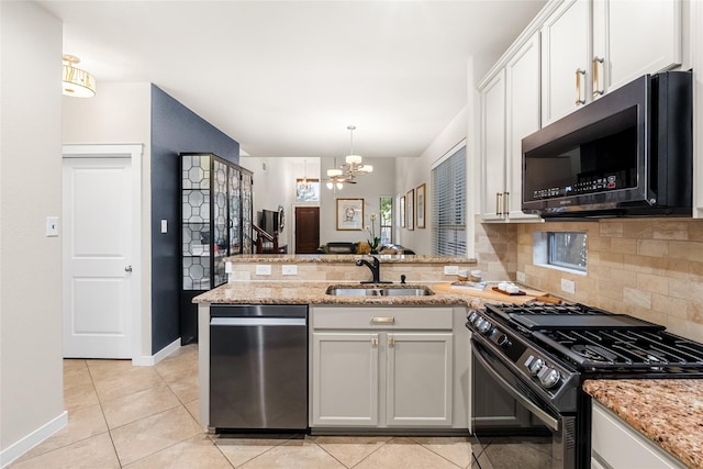
<svg viewBox="0 0 703 469"><path fill-rule="evenodd" d="M132 161L64 158L64 356L132 358Z"/></svg>

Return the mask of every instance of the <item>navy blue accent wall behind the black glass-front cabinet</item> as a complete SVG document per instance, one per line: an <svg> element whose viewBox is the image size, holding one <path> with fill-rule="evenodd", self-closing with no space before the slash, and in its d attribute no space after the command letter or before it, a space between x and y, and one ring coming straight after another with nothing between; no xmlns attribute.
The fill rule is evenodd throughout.
<svg viewBox="0 0 703 469"><path fill-rule="evenodd" d="M152 354L180 337L180 164L183 152L239 163L239 144L152 85ZM161 220L168 233L161 234Z"/></svg>

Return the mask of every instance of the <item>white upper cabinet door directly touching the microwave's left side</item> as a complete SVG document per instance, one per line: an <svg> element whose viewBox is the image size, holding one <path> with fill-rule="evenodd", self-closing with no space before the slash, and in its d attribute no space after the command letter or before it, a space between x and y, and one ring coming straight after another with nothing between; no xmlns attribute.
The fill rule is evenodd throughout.
<svg viewBox="0 0 703 469"><path fill-rule="evenodd" d="M539 130L539 35L525 43L505 65L506 82L506 178L507 216L533 219L522 211L523 146L522 139Z"/></svg>

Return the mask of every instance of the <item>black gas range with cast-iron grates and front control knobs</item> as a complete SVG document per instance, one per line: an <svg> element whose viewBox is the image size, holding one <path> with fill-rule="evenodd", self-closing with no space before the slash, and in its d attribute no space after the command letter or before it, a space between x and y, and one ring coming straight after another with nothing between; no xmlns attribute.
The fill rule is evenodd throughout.
<svg viewBox="0 0 703 469"><path fill-rule="evenodd" d="M504 459L505 447L495 443L500 436L511 442L545 436L542 454L533 458L524 458L526 445L521 446L523 468L527 460L555 469L590 467L585 379L703 378L702 344L579 303L487 304L469 312L467 327L472 332L472 432L480 451L488 458L500 448ZM490 467L501 466L492 460Z"/></svg>

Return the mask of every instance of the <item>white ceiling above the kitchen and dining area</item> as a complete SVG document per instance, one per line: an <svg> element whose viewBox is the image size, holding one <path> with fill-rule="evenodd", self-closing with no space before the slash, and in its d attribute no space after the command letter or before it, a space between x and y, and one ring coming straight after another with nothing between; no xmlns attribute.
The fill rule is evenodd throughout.
<svg viewBox="0 0 703 469"><path fill-rule="evenodd" d="M544 0L40 1L64 53L153 82L259 157L419 156Z"/></svg>

